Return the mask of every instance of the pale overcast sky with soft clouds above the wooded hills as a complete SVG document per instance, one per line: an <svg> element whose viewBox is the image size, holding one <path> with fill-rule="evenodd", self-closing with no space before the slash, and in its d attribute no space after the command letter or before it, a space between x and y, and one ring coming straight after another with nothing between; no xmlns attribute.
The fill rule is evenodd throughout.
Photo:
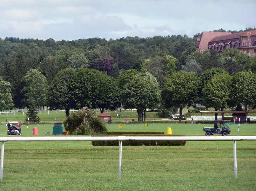
<svg viewBox="0 0 256 191"><path fill-rule="evenodd" d="M0 0L0 37L188 35L256 25L256 0Z"/></svg>

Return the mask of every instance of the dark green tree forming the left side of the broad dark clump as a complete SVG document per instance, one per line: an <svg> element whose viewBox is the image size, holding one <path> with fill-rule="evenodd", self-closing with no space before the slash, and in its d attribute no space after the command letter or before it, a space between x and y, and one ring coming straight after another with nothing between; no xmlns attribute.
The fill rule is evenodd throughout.
<svg viewBox="0 0 256 191"><path fill-rule="evenodd" d="M65 109L66 116L69 116L70 108L74 108L74 101L68 88L68 83L75 70L66 68L61 70L53 78L48 91L48 105L51 109Z"/></svg>

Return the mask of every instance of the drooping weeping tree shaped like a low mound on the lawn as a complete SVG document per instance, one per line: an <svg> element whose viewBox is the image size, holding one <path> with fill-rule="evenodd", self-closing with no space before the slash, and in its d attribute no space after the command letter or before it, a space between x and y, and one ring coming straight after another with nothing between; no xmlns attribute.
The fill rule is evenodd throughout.
<svg viewBox="0 0 256 191"><path fill-rule="evenodd" d="M104 122L87 107L71 113L63 125L69 134L74 135L105 134L107 131Z"/></svg>

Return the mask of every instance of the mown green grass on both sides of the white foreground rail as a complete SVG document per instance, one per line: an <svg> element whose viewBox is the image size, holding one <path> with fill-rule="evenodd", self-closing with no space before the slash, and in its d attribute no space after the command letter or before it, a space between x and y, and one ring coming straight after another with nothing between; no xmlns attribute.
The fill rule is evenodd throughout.
<svg viewBox="0 0 256 191"><path fill-rule="evenodd" d="M52 126L22 125L22 137L37 136L32 135L33 127L38 127L38 136L55 136L44 134L52 133ZM134 124L124 128L118 128L118 124L106 125L109 131L164 133L171 127L173 134L187 136L204 136L203 126L211 125ZM256 135L256 124L241 124L239 132L237 124L230 128L231 135ZM0 126L0 136L7 136L5 125ZM186 146L123 146L121 180L118 179L119 147L115 146L93 147L90 141L5 142L4 155L1 191L256 190L256 141L237 141L237 179L232 141L187 141Z"/></svg>

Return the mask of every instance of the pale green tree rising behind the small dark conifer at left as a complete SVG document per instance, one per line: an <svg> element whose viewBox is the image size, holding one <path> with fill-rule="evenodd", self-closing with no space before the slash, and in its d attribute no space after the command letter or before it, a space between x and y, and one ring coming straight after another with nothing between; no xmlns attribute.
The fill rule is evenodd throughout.
<svg viewBox="0 0 256 191"><path fill-rule="evenodd" d="M21 93L25 95L23 103L28 105L34 102L38 108L47 104L48 82L41 72L31 69L22 79L25 83Z"/></svg>

